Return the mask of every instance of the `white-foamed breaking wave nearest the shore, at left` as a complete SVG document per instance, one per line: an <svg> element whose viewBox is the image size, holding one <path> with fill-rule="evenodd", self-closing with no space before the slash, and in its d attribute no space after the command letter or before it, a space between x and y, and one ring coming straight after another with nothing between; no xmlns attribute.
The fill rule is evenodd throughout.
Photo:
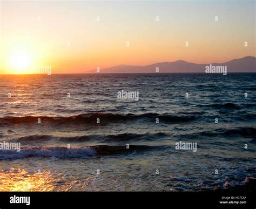
<svg viewBox="0 0 256 209"><path fill-rule="evenodd" d="M134 151L147 151L158 149L161 146L146 146L146 145L130 145L129 149L126 146L108 146L97 145L88 147L75 147L68 149L67 147L23 147L19 152L17 150L1 150L0 160L14 160L32 157L42 158L91 158L110 154L132 153Z"/></svg>

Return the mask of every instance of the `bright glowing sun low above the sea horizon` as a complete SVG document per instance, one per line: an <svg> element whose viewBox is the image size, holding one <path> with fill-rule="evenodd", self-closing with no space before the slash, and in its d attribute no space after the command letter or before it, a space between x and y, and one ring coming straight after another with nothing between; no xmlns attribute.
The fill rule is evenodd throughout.
<svg viewBox="0 0 256 209"><path fill-rule="evenodd" d="M19 72L28 70L31 64L31 56L26 51L14 51L10 58L11 67Z"/></svg>

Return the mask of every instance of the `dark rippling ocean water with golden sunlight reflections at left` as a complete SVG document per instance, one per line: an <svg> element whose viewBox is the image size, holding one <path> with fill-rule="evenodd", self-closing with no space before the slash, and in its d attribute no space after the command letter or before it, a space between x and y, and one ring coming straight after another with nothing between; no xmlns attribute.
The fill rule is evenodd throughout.
<svg viewBox="0 0 256 209"><path fill-rule="evenodd" d="M246 184L256 176L255 80L256 73L2 75L0 143L21 150L0 150L0 190ZM122 90L138 91L139 100L118 99ZM179 141L197 151L176 150Z"/></svg>

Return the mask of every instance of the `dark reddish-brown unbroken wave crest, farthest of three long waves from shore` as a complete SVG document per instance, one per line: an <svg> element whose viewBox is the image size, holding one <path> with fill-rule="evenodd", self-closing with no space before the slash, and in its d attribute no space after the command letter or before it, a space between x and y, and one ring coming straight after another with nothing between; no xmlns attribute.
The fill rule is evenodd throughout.
<svg viewBox="0 0 256 209"><path fill-rule="evenodd" d="M138 120L138 119L151 119L156 118L164 122L189 122L196 120L194 115L180 115L180 114L158 114L158 113L144 113L144 114L119 114L119 113L107 113L107 112L95 112L95 113L83 113L73 116L23 116L23 117L2 117L0 118L1 124L17 124L17 123L37 123L38 118L42 121L52 123L96 123L97 118L100 118L100 124L108 122L120 122L126 120Z"/></svg>

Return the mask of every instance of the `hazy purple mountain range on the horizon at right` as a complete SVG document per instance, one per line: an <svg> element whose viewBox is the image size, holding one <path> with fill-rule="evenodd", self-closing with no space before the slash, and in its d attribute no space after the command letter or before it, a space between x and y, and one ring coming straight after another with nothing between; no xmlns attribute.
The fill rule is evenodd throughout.
<svg viewBox="0 0 256 209"><path fill-rule="evenodd" d="M156 72L156 68L159 68L159 72L205 72L205 66L210 64L227 66L227 73L256 72L256 58L248 56L240 59L232 59L225 63L196 64L184 60L177 60L175 62L155 63L146 66L117 65L111 68L100 69L100 73L153 73ZM96 69L87 71L87 73L96 73Z"/></svg>

